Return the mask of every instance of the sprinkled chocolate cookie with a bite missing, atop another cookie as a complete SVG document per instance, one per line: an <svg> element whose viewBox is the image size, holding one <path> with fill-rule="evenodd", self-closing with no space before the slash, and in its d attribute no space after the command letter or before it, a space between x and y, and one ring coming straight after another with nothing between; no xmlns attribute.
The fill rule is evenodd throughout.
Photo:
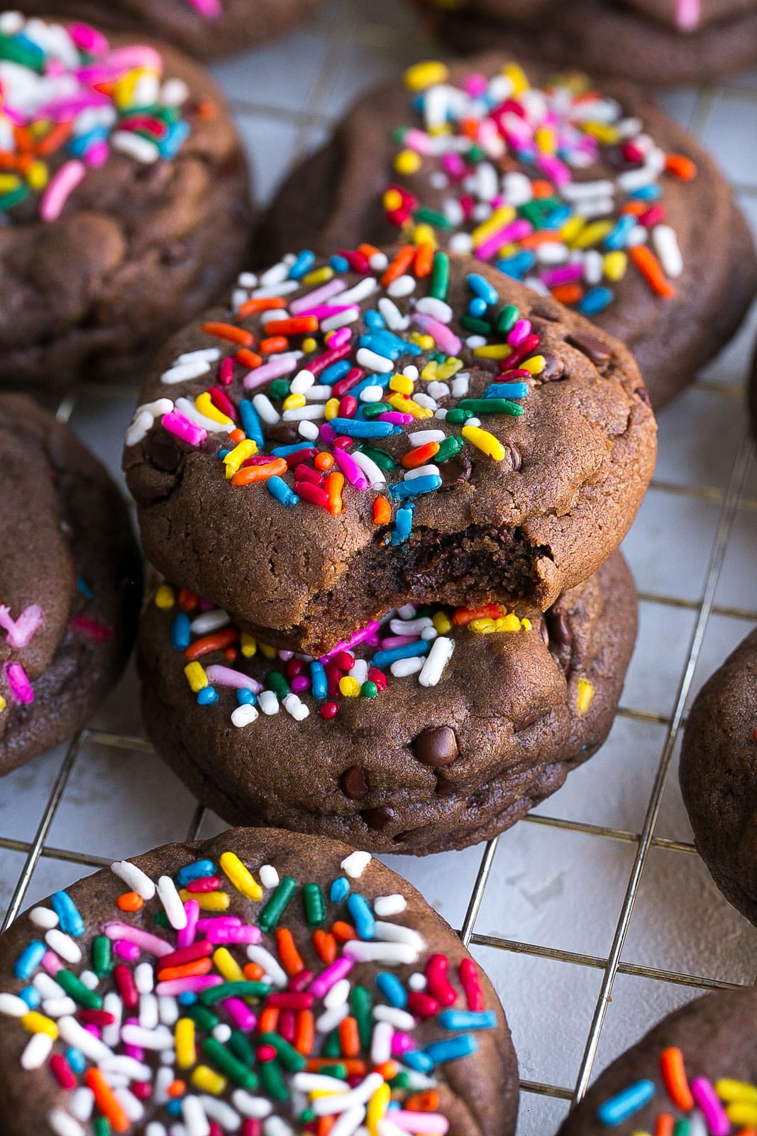
<svg viewBox="0 0 757 1136"><path fill-rule="evenodd" d="M124 458L158 570L313 655L403 603L546 609L590 576L651 476L638 368L470 267L301 253L168 343Z"/></svg>

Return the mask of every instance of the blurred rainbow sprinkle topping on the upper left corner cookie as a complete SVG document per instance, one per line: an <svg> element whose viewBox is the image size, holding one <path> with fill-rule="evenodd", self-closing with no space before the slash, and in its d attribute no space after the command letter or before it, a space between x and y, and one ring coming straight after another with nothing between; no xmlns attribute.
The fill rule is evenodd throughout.
<svg viewBox="0 0 757 1136"><path fill-rule="evenodd" d="M190 133L182 80L146 44L112 48L87 24L0 15L0 217L56 220L111 152L153 164ZM34 202L30 214L27 202Z"/></svg>

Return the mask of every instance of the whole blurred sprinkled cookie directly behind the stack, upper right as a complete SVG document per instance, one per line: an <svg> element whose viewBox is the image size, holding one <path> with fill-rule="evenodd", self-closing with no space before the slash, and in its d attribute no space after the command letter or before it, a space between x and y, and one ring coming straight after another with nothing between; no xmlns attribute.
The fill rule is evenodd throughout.
<svg viewBox="0 0 757 1136"><path fill-rule="evenodd" d="M527 72L494 52L424 62L362 98L285 182L261 251L430 231L623 340L661 407L741 323L751 235L709 154L641 90Z"/></svg>

